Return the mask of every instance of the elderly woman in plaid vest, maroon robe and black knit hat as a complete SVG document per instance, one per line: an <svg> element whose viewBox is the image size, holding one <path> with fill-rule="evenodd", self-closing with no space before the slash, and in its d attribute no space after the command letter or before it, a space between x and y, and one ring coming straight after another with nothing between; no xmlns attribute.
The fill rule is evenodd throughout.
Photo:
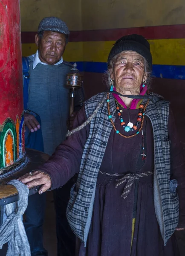
<svg viewBox="0 0 185 256"><path fill-rule="evenodd" d="M85 102L68 139L21 178L43 185L41 194L78 173L66 212L76 255L179 255L185 164L169 102L148 91L151 69L147 40L120 38L108 58L110 92Z"/></svg>

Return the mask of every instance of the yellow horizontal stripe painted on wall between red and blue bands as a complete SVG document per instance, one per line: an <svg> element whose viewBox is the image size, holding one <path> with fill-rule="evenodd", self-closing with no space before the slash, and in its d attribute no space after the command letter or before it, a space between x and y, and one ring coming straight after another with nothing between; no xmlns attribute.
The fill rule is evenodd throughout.
<svg viewBox="0 0 185 256"><path fill-rule="evenodd" d="M115 41L69 42L66 46L66 61L107 62L107 57ZM185 65L185 39L149 40L153 64ZM23 44L23 56L36 51L35 44Z"/></svg>

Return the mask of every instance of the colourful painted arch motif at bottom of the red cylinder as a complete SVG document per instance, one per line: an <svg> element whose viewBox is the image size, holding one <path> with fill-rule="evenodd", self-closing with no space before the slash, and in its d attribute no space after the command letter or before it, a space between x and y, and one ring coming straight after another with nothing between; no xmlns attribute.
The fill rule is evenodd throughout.
<svg viewBox="0 0 185 256"><path fill-rule="evenodd" d="M0 125L0 169L12 166L25 155L24 118L16 116L15 122L7 118Z"/></svg>

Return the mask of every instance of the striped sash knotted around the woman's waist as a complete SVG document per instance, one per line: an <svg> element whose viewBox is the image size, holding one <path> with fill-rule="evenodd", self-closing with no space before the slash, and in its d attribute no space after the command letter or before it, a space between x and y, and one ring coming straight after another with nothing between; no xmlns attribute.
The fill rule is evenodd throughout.
<svg viewBox="0 0 185 256"><path fill-rule="evenodd" d="M129 194L129 192L132 188L134 180L139 180L139 178L146 177L146 176L149 176L149 175L153 174L153 172L142 172L142 173L139 173L139 174L128 173L128 174L124 175L124 174L117 174L117 173L101 172L100 170L99 170L99 172L101 174L105 174L105 175L108 175L108 176L118 176L118 177L121 176L120 179L116 180L117 181L116 188L119 185L121 185L122 183L126 182L123 193L121 195L121 197L124 198L124 199L127 198L127 195Z"/></svg>

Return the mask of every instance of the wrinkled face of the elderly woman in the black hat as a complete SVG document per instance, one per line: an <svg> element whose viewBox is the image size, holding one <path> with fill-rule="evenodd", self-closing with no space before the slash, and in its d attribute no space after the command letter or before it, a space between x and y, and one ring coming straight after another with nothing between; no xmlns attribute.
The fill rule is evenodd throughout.
<svg viewBox="0 0 185 256"><path fill-rule="evenodd" d="M110 75L116 88L137 90L147 80L143 57L133 51L121 52L110 70Z"/></svg>

